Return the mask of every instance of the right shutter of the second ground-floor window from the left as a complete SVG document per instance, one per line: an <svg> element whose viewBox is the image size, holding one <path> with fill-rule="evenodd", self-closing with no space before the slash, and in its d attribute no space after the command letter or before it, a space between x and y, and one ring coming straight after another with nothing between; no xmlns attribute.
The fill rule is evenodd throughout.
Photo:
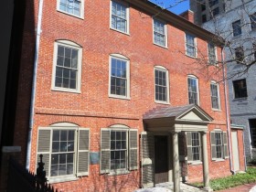
<svg viewBox="0 0 256 192"><path fill-rule="evenodd" d="M138 130L129 131L129 169L138 169Z"/></svg>

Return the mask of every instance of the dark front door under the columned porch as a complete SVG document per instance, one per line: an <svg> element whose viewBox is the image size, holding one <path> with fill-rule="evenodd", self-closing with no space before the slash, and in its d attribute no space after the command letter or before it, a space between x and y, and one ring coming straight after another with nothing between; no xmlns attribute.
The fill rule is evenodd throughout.
<svg viewBox="0 0 256 192"><path fill-rule="evenodd" d="M168 136L155 136L155 184L168 182Z"/></svg>

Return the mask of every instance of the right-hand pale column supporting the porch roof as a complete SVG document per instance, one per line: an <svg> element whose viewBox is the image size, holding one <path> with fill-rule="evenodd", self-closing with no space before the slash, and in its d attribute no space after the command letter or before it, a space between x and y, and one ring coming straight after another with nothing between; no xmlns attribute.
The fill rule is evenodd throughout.
<svg viewBox="0 0 256 192"><path fill-rule="evenodd" d="M204 189L206 191L212 191L209 187L209 176L208 176L208 144L207 144L207 133L202 132L202 155L203 155L203 172L204 172Z"/></svg>

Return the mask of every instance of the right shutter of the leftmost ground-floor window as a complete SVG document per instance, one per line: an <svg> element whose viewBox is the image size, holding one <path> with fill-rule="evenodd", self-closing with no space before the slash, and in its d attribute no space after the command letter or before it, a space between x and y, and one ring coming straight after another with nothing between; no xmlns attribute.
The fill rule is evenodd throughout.
<svg viewBox="0 0 256 192"><path fill-rule="evenodd" d="M78 133L77 176L88 176L90 130L80 127Z"/></svg>

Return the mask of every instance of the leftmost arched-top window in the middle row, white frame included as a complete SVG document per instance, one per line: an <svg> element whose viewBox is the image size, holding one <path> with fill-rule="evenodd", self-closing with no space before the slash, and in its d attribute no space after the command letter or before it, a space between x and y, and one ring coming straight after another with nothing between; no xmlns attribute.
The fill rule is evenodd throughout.
<svg viewBox="0 0 256 192"><path fill-rule="evenodd" d="M52 90L80 92L81 48L69 41L55 42Z"/></svg>

